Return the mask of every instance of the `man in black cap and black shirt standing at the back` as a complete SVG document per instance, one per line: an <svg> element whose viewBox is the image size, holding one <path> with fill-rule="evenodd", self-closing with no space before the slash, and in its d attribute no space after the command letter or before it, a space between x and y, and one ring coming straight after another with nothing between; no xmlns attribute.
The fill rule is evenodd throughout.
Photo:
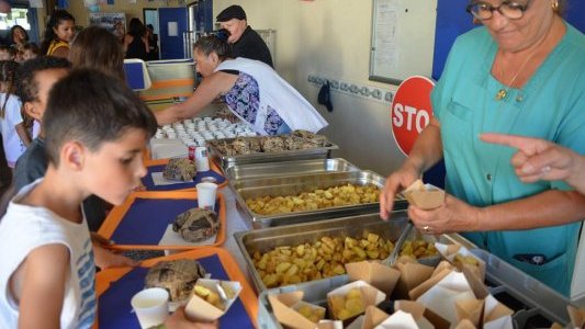
<svg viewBox="0 0 585 329"><path fill-rule="evenodd" d="M256 59L274 67L268 46L258 32L248 25L246 12L240 5L229 5L215 20L220 22L222 29L229 32L227 42L232 44L234 58L245 57Z"/></svg>

